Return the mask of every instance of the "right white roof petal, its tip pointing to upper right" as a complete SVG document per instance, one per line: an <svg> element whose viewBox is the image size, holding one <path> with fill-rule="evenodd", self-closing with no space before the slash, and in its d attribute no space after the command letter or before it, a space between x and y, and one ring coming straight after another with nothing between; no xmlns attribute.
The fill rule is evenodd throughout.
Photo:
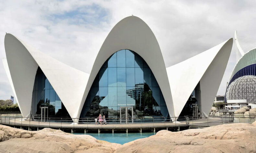
<svg viewBox="0 0 256 153"><path fill-rule="evenodd" d="M202 111L205 116L208 116L208 111L211 108L224 75L232 44L233 39L231 38L166 69L176 117L180 115L180 112L199 81ZM210 106L209 110L208 107L204 107L205 105Z"/></svg>

